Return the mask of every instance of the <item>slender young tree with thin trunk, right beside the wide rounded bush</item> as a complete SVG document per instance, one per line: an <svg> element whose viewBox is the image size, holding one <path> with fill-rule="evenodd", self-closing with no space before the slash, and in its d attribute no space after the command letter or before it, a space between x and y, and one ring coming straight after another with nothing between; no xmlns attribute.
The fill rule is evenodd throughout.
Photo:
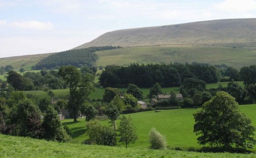
<svg viewBox="0 0 256 158"><path fill-rule="evenodd" d="M122 116L118 131L120 132L120 142L124 142L126 148L128 144L134 143L138 139L136 128L130 115L127 118Z"/></svg>

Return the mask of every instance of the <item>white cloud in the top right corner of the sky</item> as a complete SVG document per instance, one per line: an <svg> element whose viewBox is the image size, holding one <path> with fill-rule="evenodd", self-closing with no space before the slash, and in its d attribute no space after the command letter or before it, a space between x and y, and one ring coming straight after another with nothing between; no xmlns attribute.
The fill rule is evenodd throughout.
<svg viewBox="0 0 256 158"><path fill-rule="evenodd" d="M223 11L253 11L256 9L256 1L254 0L225 0L215 6Z"/></svg>

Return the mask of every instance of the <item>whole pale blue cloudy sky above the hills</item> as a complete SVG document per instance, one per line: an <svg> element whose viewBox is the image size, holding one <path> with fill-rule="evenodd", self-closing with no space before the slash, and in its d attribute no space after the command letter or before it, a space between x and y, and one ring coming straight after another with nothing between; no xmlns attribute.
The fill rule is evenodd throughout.
<svg viewBox="0 0 256 158"><path fill-rule="evenodd" d="M0 58L65 51L120 29L255 17L256 0L0 0Z"/></svg>

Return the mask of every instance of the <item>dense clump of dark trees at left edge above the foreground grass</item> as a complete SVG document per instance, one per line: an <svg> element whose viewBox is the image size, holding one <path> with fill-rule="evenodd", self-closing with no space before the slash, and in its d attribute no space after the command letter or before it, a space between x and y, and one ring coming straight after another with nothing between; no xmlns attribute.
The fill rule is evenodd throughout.
<svg viewBox="0 0 256 158"><path fill-rule="evenodd" d="M0 133L58 142L71 139L61 125L57 111L51 104L39 108L34 100L22 92L12 92L8 100L0 98Z"/></svg>

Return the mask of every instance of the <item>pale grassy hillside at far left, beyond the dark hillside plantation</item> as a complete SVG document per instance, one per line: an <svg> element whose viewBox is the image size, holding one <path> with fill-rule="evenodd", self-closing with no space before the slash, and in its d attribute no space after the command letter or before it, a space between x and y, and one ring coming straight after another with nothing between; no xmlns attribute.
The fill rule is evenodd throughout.
<svg viewBox="0 0 256 158"><path fill-rule="evenodd" d="M0 66L12 65L14 69L23 67L25 70L31 70L31 66L51 54L53 53L0 58Z"/></svg>

